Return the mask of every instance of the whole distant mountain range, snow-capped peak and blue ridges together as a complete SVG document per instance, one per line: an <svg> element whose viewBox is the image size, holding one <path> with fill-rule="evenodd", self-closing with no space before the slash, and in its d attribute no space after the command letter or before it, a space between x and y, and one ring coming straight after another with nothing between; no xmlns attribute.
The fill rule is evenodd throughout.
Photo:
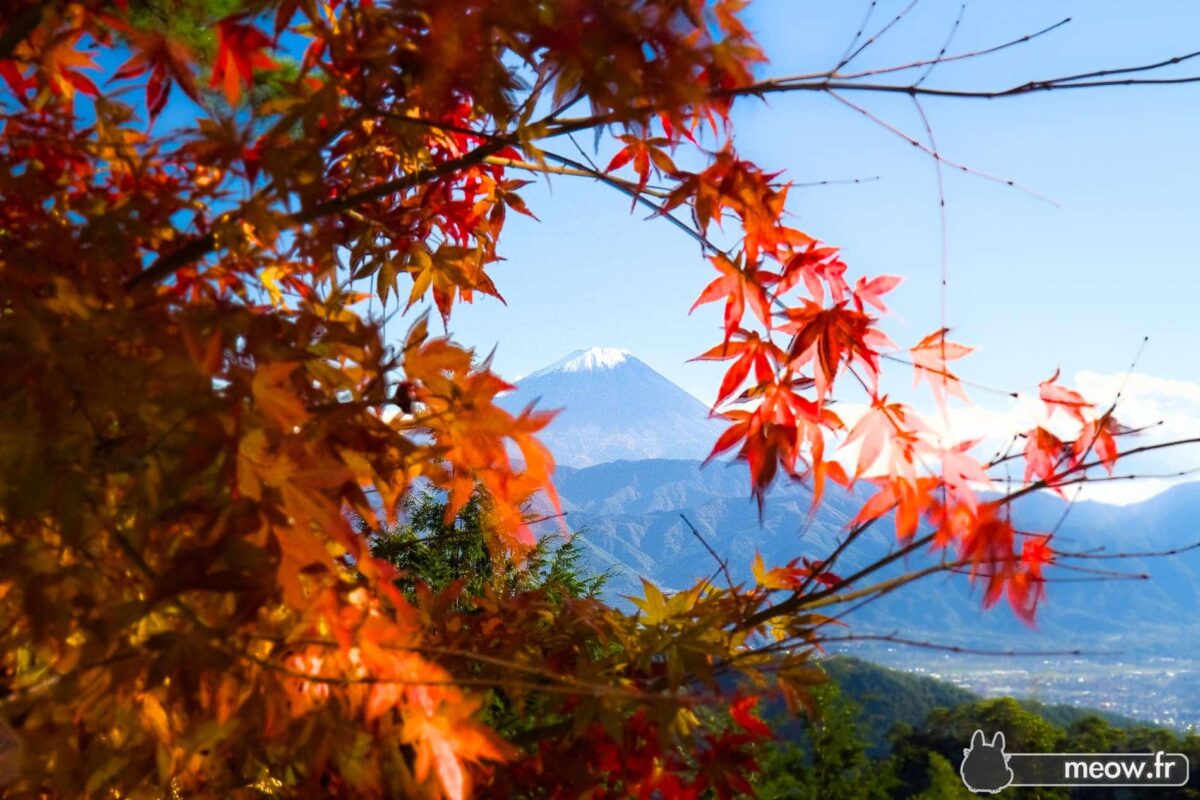
<svg viewBox="0 0 1200 800"><path fill-rule="evenodd" d="M569 524L584 531L595 566L613 571L614 599L640 594L643 577L671 590L716 571L684 517L727 559L734 578L744 581L756 552L773 565L802 554L828 554L865 497L834 487L814 512L810 488L782 481L768 495L760 519L743 465L701 469L698 457L712 446L720 423L708 417L702 403L624 350L572 353L517 386L504 398L512 408L535 397L541 398L539 407L565 407L544 439L563 464L556 483ZM1014 515L1025 530L1057 527L1057 543L1073 551L1138 553L1200 540L1200 483L1132 506L1078 503L1060 525L1064 507L1055 497L1034 494L1019 503ZM895 546L890 521L881 521L847 551L836 571L853 572ZM930 558L913 557L878 577ZM962 646L1136 646L1200 655L1200 551L1082 565L1153 579L1098 581L1103 576L1055 570L1056 583L1048 588L1034 631L1007 608L983 610L978 591L962 576L908 587L856 610L852 619L856 630L900 630Z"/></svg>

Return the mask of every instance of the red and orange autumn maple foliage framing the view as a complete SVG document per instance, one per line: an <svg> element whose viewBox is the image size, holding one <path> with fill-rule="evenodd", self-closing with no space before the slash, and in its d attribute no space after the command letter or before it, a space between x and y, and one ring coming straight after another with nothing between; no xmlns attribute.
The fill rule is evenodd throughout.
<svg viewBox="0 0 1200 800"><path fill-rule="evenodd" d="M896 584L838 571L868 527L894 524L889 563L932 548L1033 618L1058 555L1007 504L1111 470L1123 429L1049 379L1045 415L1075 433L1037 426L989 462L888 397L899 374L961 402L970 348L894 344L899 278L794 228L786 176L738 154L731 107L764 64L744 2L247 0L206 50L144 5L17 1L0 36L13 796L727 796L772 735L758 698L803 708L841 604ZM569 155L576 133L616 155ZM383 527L424 486L452 515L482 487L491 546L520 560L529 501L556 503L552 411L502 410L511 386L437 332L502 296L539 173L701 242L696 306L724 331L701 357L727 363L712 457L744 462L760 503L776 480L816 503L868 487L836 552L798 539L743 585L647 584L636 614L396 589L352 516ZM380 301L413 309L400 339Z"/></svg>

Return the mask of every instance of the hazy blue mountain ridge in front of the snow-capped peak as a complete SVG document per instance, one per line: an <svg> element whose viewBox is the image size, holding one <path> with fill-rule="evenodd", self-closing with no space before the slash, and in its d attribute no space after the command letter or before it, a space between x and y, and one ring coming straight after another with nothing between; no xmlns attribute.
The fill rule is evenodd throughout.
<svg viewBox="0 0 1200 800"><path fill-rule="evenodd" d="M611 569L613 596L640 594L641 578L664 589L683 589L716 571L707 548L684 517L728 561L736 581L749 579L756 552L769 565L797 555L822 558L840 541L862 498L829 491L811 513L811 491L780 483L767 498L763 517L746 497L742 465L694 461L614 462L563 469L557 486L571 529L582 530L598 569ZM1055 498L1033 495L1016 504L1014 518L1026 530L1049 530L1062 515ZM1134 506L1078 503L1057 534L1073 551L1139 553L1186 546L1200 539L1200 485L1184 485ZM881 521L838 564L840 573L886 555L895 547L890 521ZM886 578L930 563L912 557L884 570ZM1092 573L1051 570L1046 603L1030 630L1008 609L984 610L979 593L964 576L940 576L910 585L854 612L856 628L899 630L917 638L974 648L1036 650L1190 652L1200 655L1200 551L1169 558L1082 561L1085 566L1150 575L1151 579L1104 579ZM1082 581L1081 581L1082 578ZM1061 583L1058 583L1061 581Z"/></svg>

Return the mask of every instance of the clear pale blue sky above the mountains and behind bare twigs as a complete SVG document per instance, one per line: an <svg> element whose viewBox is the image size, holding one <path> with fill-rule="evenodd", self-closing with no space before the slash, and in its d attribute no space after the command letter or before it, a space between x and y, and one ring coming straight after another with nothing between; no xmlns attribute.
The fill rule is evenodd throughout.
<svg viewBox="0 0 1200 800"><path fill-rule="evenodd" d="M828 68L866 5L752 2L751 28L773 60L768 72ZM881 0L872 24L905 5ZM923 0L856 66L936 54L960 5ZM1200 49L1194 4L977 1L967 6L950 52L996 44L1064 17L1073 18L1068 25L1028 44L943 65L926 85L1004 88ZM923 134L907 98L854 100ZM960 374L1036 391L1037 381L1061 367L1068 381L1111 392L1148 336L1140 374L1127 386L1132 421L1169 413L1174 432L1200 431L1200 85L930 100L925 109L946 157L1054 200L947 170L947 319L955 341L979 348L961 362ZM793 222L841 247L852 273L905 277L884 326L898 343L911 345L936 330L941 228L934 162L824 96L742 101L734 122L744 155L798 182L878 176L793 190ZM599 154L601 163L607 155ZM661 221L630 215L628 198L587 181L539 181L524 196L541 222L515 218L505 233L508 261L493 276L508 306L486 299L464 306L451 332L484 351L494 345L494 363L510 378L574 349L620 347L710 399L719 366L688 360L718 341L721 312L713 305L688 315L715 275L695 245ZM397 335L401 329L396 325ZM894 366L890 381L907 396L912 379L905 367ZM972 395L990 414L1013 410L1003 398ZM1157 459L1153 468L1196 464L1200 451L1193 450Z"/></svg>

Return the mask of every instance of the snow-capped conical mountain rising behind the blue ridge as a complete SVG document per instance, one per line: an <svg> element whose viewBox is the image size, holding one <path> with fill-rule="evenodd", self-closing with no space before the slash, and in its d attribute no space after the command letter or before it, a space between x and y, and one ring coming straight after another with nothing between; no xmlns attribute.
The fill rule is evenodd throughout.
<svg viewBox="0 0 1200 800"><path fill-rule="evenodd" d="M541 440L565 467L647 458L701 459L724 425L628 350L576 350L517 381L499 404L562 409Z"/></svg>

